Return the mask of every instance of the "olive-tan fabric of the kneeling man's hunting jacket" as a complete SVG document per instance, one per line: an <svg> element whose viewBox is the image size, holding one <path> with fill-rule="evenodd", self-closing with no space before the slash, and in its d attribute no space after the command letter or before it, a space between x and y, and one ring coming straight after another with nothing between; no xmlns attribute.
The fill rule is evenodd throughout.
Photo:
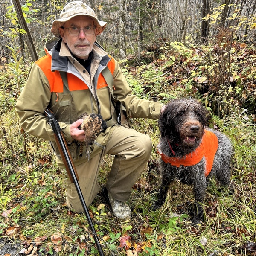
<svg viewBox="0 0 256 256"><path fill-rule="evenodd" d="M110 89L108 86L100 87L98 83L101 71L106 68L110 61L114 63L113 97L122 103L123 110L126 111L125 115L129 118L141 117L150 119L158 119L160 116L162 105L159 102L139 99L133 95L119 64L97 44L93 47L90 75L73 58L61 39L54 45L53 49L47 49L46 44L46 52L47 55L42 57L44 59L41 58L39 62L32 64L26 85L20 93L15 109L20 117L20 124L26 132L53 142L51 144L59 158L58 163L60 166L62 166L62 161L58 154L58 149L54 145L54 134L44 115L44 109L51 108L55 113L65 139L73 142L70 150L74 151L73 160L75 165L85 161L85 154L82 157L78 157L79 145L70 136L70 124L75 122L78 116L84 112L99 113L106 121L113 117L113 113L111 114ZM49 58L51 58L50 62ZM48 73L49 70L54 72L55 74L52 73L54 76L59 71L76 76L81 81L81 84L86 84L87 90L70 90L69 95L64 95L63 91L54 91L54 86L53 88L50 86L49 74L46 76L44 69L42 69L42 64L44 64L44 69L48 69ZM54 84L54 81L51 81L51 83ZM56 86L59 87L59 84ZM92 87L95 87L96 93L93 93ZM65 104L61 105L63 102ZM70 102L70 104L67 106L66 102ZM109 131L110 127L107 128L106 133ZM101 140L101 136L104 137L104 134L100 134L99 141L102 144L106 143L104 139Z"/></svg>

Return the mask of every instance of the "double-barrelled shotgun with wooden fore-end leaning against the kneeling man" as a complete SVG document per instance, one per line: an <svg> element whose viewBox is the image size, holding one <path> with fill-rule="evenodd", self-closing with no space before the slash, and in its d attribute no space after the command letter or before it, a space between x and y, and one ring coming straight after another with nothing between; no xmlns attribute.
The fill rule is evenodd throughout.
<svg viewBox="0 0 256 256"><path fill-rule="evenodd" d="M82 192L81 192L81 189L80 189L80 186L79 186L79 183L78 183L79 177L78 177L77 172L76 172L76 167L74 166L72 157L70 156L70 151L67 148L67 143L66 143L66 140L65 140L65 138L63 136L63 133L61 131L60 125L59 125L57 119L55 118L54 113L49 108L46 108L44 110L44 113L45 113L45 115L47 117L47 120L49 122L49 125L51 126L52 131L54 133L55 141L56 141L58 149L61 153L61 157L62 157L62 160L64 162L67 174L70 178L70 181L72 183L74 183L74 185L76 187L76 192L79 196L81 205L84 209L84 213L85 213L85 216L87 218L90 230L93 233L93 238L94 238L94 241L96 243L97 249L99 251L99 255L104 256L101 244L99 243L98 236L97 236L96 231L94 229L92 219L90 218L90 214L87 210L87 206L85 204L84 197L82 195Z"/></svg>

